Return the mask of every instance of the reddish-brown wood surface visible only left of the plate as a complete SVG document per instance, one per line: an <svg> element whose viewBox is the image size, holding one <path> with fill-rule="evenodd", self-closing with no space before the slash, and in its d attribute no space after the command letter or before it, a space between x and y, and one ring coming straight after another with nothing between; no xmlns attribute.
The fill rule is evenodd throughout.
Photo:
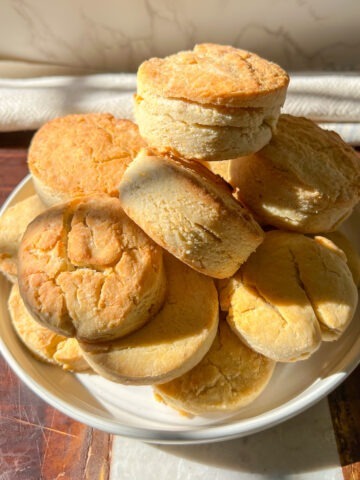
<svg viewBox="0 0 360 480"><path fill-rule="evenodd" d="M0 134L0 204L28 173L31 136ZM0 357L1 480L106 480L111 441L43 402Z"/></svg>

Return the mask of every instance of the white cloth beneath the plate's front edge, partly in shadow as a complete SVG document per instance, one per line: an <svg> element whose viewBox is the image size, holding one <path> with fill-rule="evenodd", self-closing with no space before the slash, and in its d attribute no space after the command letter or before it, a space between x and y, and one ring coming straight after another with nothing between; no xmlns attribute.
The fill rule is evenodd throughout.
<svg viewBox="0 0 360 480"><path fill-rule="evenodd" d="M114 437L110 480L343 480L323 399L285 423L204 445L150 445Z"/></svg>

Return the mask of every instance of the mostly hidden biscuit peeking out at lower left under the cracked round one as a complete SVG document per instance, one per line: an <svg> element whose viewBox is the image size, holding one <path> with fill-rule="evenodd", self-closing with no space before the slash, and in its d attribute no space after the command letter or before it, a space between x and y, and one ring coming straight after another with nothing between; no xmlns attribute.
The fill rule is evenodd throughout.
<svg viewBox="0 0 360 480"><path fill-rule="evenodd" d="M58 335L32 318L21 299L17 284L11 289L8 305L11 322L18 337L38 360L73 372L90 369L75 338Z"/></svg>

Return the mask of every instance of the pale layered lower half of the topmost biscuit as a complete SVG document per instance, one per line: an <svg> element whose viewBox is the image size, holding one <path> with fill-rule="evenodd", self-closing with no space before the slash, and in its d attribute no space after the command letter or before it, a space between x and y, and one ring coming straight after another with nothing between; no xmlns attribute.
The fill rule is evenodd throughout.
<svg viewBox="0 0 360 480"><path fill-rule="evenodd" d="M180 106L179 106L180 105ZM216 109L181 100L135 102L135 117L149 145L196 160L227 160L263 148L272 137L280 106Z"/></svg>

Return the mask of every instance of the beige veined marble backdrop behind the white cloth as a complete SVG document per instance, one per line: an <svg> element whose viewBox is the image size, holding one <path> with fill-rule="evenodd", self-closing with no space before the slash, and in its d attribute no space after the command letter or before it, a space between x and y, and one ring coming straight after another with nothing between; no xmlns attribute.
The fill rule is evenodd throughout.
<svg viewBox="0 0 360 480"><path fill-rule="evenodd" d="M289 70L360 70L359 0L0 0L0 59L134 71L218 42Z"/></svg>

